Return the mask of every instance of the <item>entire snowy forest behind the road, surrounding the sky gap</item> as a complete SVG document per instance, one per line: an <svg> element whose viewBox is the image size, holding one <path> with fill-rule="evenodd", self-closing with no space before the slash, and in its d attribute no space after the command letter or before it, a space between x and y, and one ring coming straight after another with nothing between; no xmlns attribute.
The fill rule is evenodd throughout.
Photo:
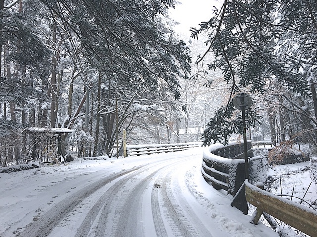
<svg viewBox="0 0 317 237"><path fill-rule="evenodd" d="M117 142L317 146L317 2L224 0L180 40L174 0L0 0L1 166ZM205 20L205 21L204 21Z"/></svg>

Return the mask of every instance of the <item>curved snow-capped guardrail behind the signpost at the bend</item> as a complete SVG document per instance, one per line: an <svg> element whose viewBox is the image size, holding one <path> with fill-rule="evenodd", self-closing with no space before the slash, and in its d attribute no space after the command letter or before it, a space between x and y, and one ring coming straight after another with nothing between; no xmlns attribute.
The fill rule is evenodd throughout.
<svg viewBox="0 0 317 237"><path fill-rule="evenodd" d="M247 144L248 156L252 157L251 141ZM211 145L205 149L202 161L202 175L215 189L224 189L235 195L245 180L243 143ZM259 158L257 158L259 159Z"/></svg>

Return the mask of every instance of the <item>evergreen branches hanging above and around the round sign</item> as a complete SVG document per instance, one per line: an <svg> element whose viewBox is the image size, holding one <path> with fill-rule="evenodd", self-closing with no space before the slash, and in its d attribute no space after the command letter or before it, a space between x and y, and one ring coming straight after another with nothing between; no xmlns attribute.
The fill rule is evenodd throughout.
<svg viewBox="0 0 317 237"><path fill-rule="evenodd" d="M317 2L315 0L224 0L221 9L192 28L192 37L209 34L208 49L215 59L209 69L219 68L231 84L225 108L211 118L204 132L204 144L224 141L241 130L232 120L231 98L243 90L264 94L271 82L304 97L310 96L310 83L316 82ZM250 123L259 119L247 111ZM237 124L238 126L241 126Z"/></svg>

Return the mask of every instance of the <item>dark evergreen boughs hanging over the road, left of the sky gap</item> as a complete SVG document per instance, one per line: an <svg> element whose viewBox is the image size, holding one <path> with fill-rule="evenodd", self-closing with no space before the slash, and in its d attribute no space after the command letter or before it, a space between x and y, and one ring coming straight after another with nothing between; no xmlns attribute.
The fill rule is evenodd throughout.
<svg viewBox="0 0 317 237"><path fill-rule="evenodd" d="M79 37L82 53L91 67L131 91L158 91L159 80L163 80L179 98L176 77L186 77L190 70L189 49L183 41L173 38L173 32L159 15L173 7L173 1L44 3L60 17L66 29Z"/></svg>

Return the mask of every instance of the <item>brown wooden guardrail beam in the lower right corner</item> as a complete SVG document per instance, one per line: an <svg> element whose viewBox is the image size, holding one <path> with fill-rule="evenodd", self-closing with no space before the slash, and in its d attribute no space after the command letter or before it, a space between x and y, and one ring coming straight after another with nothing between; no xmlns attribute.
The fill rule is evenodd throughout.
<svg viewBox="0 0 317 237"><path fill-rule="evenodd" d="M317 212L288 199L273 195L245 181L246 199L257 211L285 222L312 237L317 235ZM261 215L261 214L260 214ZM257 213L257 218L260 218ZM257 224L258 219L253 223Z"/></svg>

